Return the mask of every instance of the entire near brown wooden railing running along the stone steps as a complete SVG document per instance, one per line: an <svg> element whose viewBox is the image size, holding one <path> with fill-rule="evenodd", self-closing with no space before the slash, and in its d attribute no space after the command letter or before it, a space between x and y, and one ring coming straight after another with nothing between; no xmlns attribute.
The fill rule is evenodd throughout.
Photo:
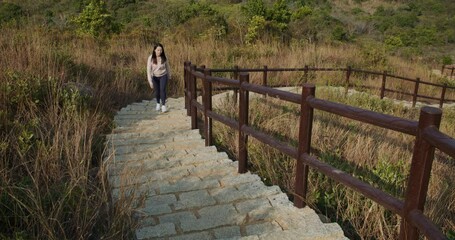
<svg viewBox="0 0 455 240"><path fill-rule="evenodd" d="M395 116L360 109L340 103L330 102L315 97L315 86L305 83L302 93L295 94L249 82L249 73L241 72L238 79L212 76L214 70L202 67L199 70L190 62L185 62L185 106L191 116L191 127L196 129L198 112L203 115L203 136L207 146L212 145L212 120L238 131L238 172L248 171L248 137L273 147L296 159L296 178L294 205L304 207L308 187L308 170L313 168L345 186L359 192L402 219L400 239L418 239L420 233L429 239L446 239L439 228L424 214L423 208L427 196L430 172L435 148L455 158L455 139L440 132L439 124L442 111L439 108L421 108L419 121L411 121ZM202 103L198 98L198 80L202 81ZM238 90L238 121L212 111L212 85L227 85ZM300 124L298 147L295 148L267 133L252 128L248 123L249 93L259 93L268 97L300 104ZM416 137L411 162L410 175L404 200L393 197L384 191L374 188L348 173L322 162L310 155L311 133L314 109L338 114L353 120L391 129Z"/></svg>

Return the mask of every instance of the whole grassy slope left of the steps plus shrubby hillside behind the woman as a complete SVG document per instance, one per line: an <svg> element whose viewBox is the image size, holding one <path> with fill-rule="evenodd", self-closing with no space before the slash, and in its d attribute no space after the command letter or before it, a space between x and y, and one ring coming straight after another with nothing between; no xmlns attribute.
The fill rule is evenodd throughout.
<svg viewBox="0 0 455 240"><path fill-rule="evenodd" d="M171 63L174 96L183 93L186 60L211 67L351 65L437 82L431 69L454 59L452 5L0 2L0 225L7 226L0 238L131 237L131 199L110 205L104 136L120 107L152 98L145 64L156 41ZM454 228L453 219L442 221Z"/></svg>

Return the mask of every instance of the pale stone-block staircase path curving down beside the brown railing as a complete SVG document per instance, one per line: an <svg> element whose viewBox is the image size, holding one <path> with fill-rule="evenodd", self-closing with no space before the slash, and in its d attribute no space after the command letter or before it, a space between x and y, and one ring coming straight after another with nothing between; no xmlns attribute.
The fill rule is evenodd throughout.
<svg viewBox="0 0 455 240"><path fill-rule="evenodd" d="M184 100L169 112L143 101L121 109L108 136L113 201L134 199L136 239L347 239L336 223L295 208L277 186L237 173L237 162L205 147Z"/></svg>

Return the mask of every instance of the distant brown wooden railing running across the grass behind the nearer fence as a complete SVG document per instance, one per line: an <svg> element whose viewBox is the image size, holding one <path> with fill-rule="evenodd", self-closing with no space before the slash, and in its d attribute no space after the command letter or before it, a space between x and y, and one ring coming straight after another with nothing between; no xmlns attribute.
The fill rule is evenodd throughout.
<svg viewBox="0 0 455 240"><path fill-rule="evenodd" d="M200 70L200 69L199 69ZM416 103L418 100L429 100L429 101L436 101L439 104L439 107L442 108L444 103L454 103L455 102L455 87L447 86L446 84L436 84L432 82L427 82L423 81L420 78L412 79L408 77L402 77L402 76L397 76L390 74L386 71L383 72L375 72L375 71L369 71L369 70L362 70L362 69L355 69L352 67L346 67L346 68L316 68L316 67L309 67L309 66L304 66L303 68L268 68L267 66L264 66L263 68L239 68L238 66L235 66L232 69L212 69L211 70L213 73L232 73L234 79L238 79L238 74L242 72L262 72L263 77L262 77L262 85L263 86L271 86L271 87L279 87L279 86L285 86L283 84L275 84L275 85L270 85L268 83L269 77L268 73L271 72L303 72L304 77L303 79L307 79L307 76L310 72L345 72L345 77L343 79L344 81L344 87L345 91L347 93L348 89L351 87L354 87L352 84L353 82L353 75L354 74L365 74L369 76L377 76L381 78L381 85L380 87L378 86L369 86L366 84L362 84L360 87L363 88L369 88L369 89L378 89L380 91L380 98L383 99L386 96L386 93L396 93L396 94L401 94L403 96L409 96L411 97L411 102L412 106L415 107ZM453 71L453 69L452 69ZM412 92L406 92L406 91L400 91L400 90L395 90L392 87L387 87L387 83L390 82L408 82L408 83L413 83L413 86L410 88ZM328 83L327 83L328 84ZM379 85L379 84L378 84ZM435 94L432 96L424 95L422 92L422 89L425 86L432 86L436 88L437 92L439 94ZM452 98L448 97L447 92L451 91L451 96ZM237 92L234 92L237 94Z"/></svg>

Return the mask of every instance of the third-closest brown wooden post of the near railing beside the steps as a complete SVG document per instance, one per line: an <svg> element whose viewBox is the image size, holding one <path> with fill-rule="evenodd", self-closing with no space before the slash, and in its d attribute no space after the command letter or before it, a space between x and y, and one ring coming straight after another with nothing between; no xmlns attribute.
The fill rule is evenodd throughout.
<svg viewBox="0 0 455 240"><path fill-rule="evenodd" d="M249 94L244 90L242 83L248 83L250 75L248 73L240 74L239 84L239 173L246 173L248 171L248 135L242 131L242 126L248 125L248 108L249 108Z"/></svg>

